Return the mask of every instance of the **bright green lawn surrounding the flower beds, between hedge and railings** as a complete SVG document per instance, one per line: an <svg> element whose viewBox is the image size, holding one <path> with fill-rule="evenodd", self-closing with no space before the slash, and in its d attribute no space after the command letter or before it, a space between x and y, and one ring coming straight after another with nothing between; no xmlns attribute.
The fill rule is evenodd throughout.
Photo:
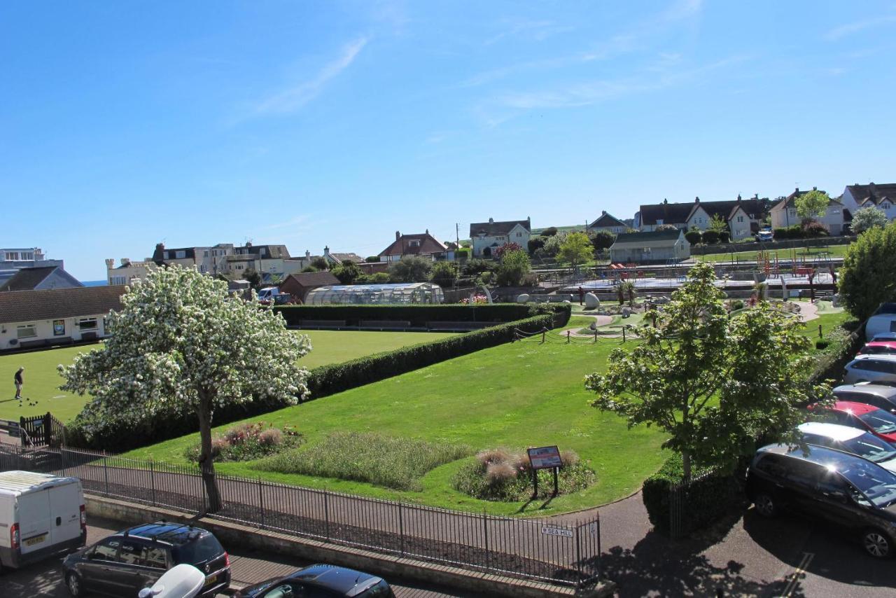
<svg viewBox="0 0 896 598"><path fill-rule="evenodd" d="M252 420L292 425L306 435L306 446L332 431L375 432L466 444L474 450L504 446L557 445L589 460L598 481L588 490L526 507L527 514L547 514L593 507L638 490L666 455L656 429L626 429L625 420L590 407L592 395L583 377L606 367L614 344L514 342L477 351L428 368L361 386L344 393L268 413ZM231 424L232 425L232 424ZM218 433L230 426L220 427ZM129 456L185 463L184 450L198 435L176 438L134 450ZM470 457L472 458L472 457ZM522 503L470 498L452 489L452 475L465 460L435 468L421 479L422 490L388 490L358 481L302 474L260 472L248 463L219 464L220 472L262 476L314 488L378 498L401 498L437 507L493 514L513 514Z"/></svg>

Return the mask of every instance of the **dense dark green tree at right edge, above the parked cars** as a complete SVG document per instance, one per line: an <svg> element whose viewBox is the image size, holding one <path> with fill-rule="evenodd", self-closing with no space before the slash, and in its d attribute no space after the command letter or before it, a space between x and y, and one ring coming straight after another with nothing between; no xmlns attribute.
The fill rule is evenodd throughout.
<svg viewBox="0 0 896 598"><path fill-rule="evenodd" d="M866 230L847 247L838 284L843 307L860 320L896 299L896 222Z"/></svg>

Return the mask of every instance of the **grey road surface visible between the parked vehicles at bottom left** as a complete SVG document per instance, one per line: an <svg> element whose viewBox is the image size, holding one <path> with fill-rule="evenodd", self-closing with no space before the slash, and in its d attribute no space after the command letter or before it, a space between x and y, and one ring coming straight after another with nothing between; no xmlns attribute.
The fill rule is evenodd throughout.
<svg viewBox="0 0 896 598"><path fill-rule="evenodd" d="M88 543L98 542L110 533L117 532L125 524L104 519L91 519L88 526ZM228 548L228 547L225 547ZM263 581L269 577L285 575L299 567L311 563L296 559L282 559L277 555L261 554L245 550L230 552L230 568L233 586L242 587ZM8 572L0 577L0 596L3 598L65 598L69 594L62 579L62 568L58 559L37 563L20 571ZM449 588L437 585L394 583L397 598L468 598L470 594L459 594Z"/></svg>

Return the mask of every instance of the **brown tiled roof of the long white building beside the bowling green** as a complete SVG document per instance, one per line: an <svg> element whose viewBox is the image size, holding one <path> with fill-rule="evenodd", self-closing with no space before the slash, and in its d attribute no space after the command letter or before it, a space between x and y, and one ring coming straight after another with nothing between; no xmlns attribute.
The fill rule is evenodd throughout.
<svg viewBox="0 0 896 598"><path fill-rule="evenodd" d="M124 292L124 286L106 286L0 293L0 323L98 316L120 309Z"/></svg>

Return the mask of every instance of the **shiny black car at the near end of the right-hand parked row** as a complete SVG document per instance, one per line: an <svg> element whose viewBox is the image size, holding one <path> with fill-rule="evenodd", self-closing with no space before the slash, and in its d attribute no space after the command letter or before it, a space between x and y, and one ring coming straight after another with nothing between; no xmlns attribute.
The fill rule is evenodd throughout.
<svg viewBox="0 0 896 598"><path fill-rule="evenodd" d="M858 532L873 557L896 551L896 474L878 464L823 446L770 445L756 452L746 482L762 516L787 507Z"/></svg>

